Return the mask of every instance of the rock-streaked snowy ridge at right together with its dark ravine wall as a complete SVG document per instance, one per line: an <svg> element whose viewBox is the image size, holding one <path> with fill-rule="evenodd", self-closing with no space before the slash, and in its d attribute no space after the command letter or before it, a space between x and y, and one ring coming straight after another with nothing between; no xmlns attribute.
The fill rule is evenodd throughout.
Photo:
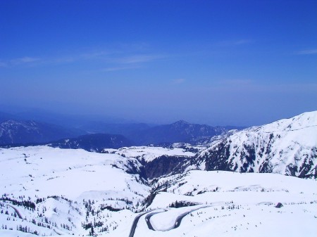
<svg viewBox="0 0 317 237"><path fill-rule="evenodd" d="M161 155L140 160L150 179L186 170L277 173L317 178L317 111L213 136L204 147L178 146L192 156ZM170 148L170 147L168 147ZM166 167L167 166L167 167Z"/></svg>

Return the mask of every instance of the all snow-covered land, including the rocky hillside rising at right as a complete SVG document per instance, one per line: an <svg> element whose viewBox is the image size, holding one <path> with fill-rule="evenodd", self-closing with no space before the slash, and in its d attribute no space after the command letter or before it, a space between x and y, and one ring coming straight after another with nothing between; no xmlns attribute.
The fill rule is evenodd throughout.
<svg viewBox="0 0 317 237"><path fill-rule="evenodd" d="M0 236L315 236L316 118L199 146L0 148Z"/></svg>

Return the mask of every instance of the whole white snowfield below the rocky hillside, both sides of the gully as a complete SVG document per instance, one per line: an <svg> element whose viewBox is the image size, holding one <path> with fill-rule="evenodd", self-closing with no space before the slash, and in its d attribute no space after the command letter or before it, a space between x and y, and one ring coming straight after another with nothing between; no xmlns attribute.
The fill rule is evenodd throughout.
<svg viewBox="0 0 317 237"><path fill-rule="evenodd" d="M194 153L106 151L0 148L0 236L316 236L316 179L192 170L149 184L139 158Z"/></svg>

